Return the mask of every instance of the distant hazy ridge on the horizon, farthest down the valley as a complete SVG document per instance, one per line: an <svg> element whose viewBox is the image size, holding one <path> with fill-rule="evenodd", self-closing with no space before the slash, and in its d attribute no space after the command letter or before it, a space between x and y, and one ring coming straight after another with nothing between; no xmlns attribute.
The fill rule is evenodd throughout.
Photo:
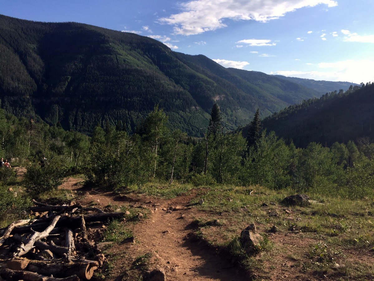
<svg viewBox="0 0 374 281"><path fill-rule="evenodd" d="M313 79L306 79L306 78L297 78L297 77L287 77L283 75L274 75L275 77L285 79L291 82L295 82L299 85L303 85L304 87L313 89L318 93L325 94L330 93L335 90L342 89L346 91L349 89L350 85L352 86L359 86L359 84L346 82L346 81L318 81Z"/></svg>

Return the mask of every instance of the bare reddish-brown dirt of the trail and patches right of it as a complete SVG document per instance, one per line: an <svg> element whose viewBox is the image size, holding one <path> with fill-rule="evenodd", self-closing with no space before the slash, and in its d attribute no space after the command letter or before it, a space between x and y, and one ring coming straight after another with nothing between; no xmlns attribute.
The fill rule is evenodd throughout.
<svg viewBox="0 0 374 281"><path fill-rule="evenodd" d="M94 203L103 208L106 205L132 206L133 208L149 209L146 219L137 224L128 224L135 236L135 243L116 245L108 250L108 257L114 259L112 274L105 280L138 280L129 276L137 257L151 254L150 269L162 268L166 280L200 281L200 280L251 280L251 274L239 268L229 257L220 254L214 245L208 245L193 235L194 220L206 217L206 213L191 208L189 202L198 191L183 194L174 199L156 199L138 194L126 197L116 196L112 192L83 189L82 179L68 178L60 188L71 190L72 193L83 194L78 202L83 205ZM268 226L259 226L261 232ZM214 228L207 229L209 237L216 235ZM212 236L211 236L212 235ZM315 237L306 237L301 233L269 233L269 240L274 244L263 259L260 275L253 275L256 280L336 280L338 276L315 273L313 270L303 271L302 265L309 261L308 250L320 242ZM214 241L214 237L212 239ZM219 235L217 234L217 241ZM362 260L367 264L374 263L373 253L359 249L344 251L347 261ZM260 254L257 259L261 259ZM123 279L126 278L126 279ZM343 277L344 279L344 277Z"/></svg>

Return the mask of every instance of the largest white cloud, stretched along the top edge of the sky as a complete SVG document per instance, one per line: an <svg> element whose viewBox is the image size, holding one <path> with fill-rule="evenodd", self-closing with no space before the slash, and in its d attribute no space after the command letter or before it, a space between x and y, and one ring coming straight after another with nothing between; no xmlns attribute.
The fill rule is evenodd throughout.
<svg viewBox="0 0 374 281"><path fill-rule="evenodd" d="M267 22L288 12L319 4L337 6L334 0L193 0L180 4L181 12L160 23L174 25L175 34L193 35L226 27L224 19Z"/></svg>

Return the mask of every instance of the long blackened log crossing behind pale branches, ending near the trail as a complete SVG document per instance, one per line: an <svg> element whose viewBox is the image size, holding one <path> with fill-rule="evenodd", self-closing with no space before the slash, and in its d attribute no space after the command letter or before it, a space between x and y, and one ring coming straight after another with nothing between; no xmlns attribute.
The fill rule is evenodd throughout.
<svg viewBox="0 0 374 281"><path fill-rule="evenodd" d="M85 215L85 222L86 223L93 223L96 221L107 221L113 219L120 219L125 216L124 212L106 212L102 214L94 214L94 215ZM70 228L78 228L81 224L80 216L76 217L62 217L56 224L56 227L70 227ZM44 223L35 223L29 226L20 226L15 227L13 229L13 233L28 233L30 232L31 228L35 231L40 231L45 229L49 225L48 222Z"/></svg>

